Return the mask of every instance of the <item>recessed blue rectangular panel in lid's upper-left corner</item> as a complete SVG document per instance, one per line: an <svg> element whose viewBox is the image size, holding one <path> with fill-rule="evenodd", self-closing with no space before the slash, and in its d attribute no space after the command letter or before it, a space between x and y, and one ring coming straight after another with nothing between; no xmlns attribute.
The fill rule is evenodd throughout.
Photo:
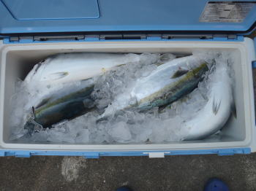
<svg viewBox="0 0 256 191"><path fill-rule="evenodd" d="M98 18L97 0L1 0L15 20Z"/></svg>

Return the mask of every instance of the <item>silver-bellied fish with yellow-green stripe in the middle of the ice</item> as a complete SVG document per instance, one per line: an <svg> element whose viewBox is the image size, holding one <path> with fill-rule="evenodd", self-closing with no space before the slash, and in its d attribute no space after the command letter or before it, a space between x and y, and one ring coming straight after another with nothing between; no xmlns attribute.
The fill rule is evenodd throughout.
<svg viewBox="0 0 256 191"><path fill-rule="evenodd" d="M147 77L135 82L130 93L119 95L99 120L121 109L138 109L143 112L177 101L194 90L208 71L209 63L190 55L157 66ZM129 99L135 100L130 104Z"/></svg>

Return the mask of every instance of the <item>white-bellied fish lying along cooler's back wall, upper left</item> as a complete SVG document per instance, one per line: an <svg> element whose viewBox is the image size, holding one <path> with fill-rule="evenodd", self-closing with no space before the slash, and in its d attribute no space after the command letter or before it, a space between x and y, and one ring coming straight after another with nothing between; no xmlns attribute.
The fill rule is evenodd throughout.
<svg viewBox="0 0 256 191"><path fill-rule="evenodd" d="M37 105L38 101L47 98L50 94L65 88L67 84L83 79L97 77L106 72L123 66L127 63L140 61L165 60L174 55L153 53L61 53L52 55L34 66L24 79L26 91L33 97L26 104L26 109Z"/></svg>

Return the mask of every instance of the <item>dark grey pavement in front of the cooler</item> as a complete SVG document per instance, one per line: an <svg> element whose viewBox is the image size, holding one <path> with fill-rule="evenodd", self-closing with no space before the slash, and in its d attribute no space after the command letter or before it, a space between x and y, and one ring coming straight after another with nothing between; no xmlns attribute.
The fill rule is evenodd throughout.
<svg viewBox="0 0 256 191"><path fill-rule="evenodd" d="M256 76L256 71L254 72ZM256 84L256 83L255 83ZM255 88L256 90L256 88ZM1 191L203 190L211 177L230 190L256 190L256 154L148 157L0 157Z"/></svg>

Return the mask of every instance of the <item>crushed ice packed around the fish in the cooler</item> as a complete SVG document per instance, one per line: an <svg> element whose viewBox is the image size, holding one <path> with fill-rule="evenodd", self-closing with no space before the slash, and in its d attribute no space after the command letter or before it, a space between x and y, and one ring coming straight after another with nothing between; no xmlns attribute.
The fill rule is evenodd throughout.
<svg viewBox="0 0 256 191"><path fill-rule="evenodd" d="M121 93L127 93L134 85L136 79L146 77L157 68L159 63L170 61L174 55L165 53L144 54L145 59L140 63L128 63L117 69L108 71L100 77L95 77L94 99L98 112L89 112L73 120L60 122L54 128L47 128L33 136L27 136L23 128L27 116L31 112L34 101L40 97L40 93L47 90L61 90L67 86L79 86L79 82L55 85L54 87L42 87L34 92L26 89L26 84L18 80L15 94L12 96L12 109L10 124L12 136L10 139L26 141L50 141L55 143L71 144L114 144L114 143L162 143L168 141L182 141L187 134L181 126L181 122L195 116L203 108L208 100L208 90L211 88L211 70L199 83L198 87L165 109L154 108L148 112L124 110L108 118L97 121L100 112ZM233 63L231 52L197 51L193 55L211 63L214 58L216 63ZM228 62L227 62L228 61ZM231 74L231 73L230 73ZM42 93L43 94L43 93ZM125 99L127 100L127 99ZM130 104L133 100L128 99Z"/></svg>

